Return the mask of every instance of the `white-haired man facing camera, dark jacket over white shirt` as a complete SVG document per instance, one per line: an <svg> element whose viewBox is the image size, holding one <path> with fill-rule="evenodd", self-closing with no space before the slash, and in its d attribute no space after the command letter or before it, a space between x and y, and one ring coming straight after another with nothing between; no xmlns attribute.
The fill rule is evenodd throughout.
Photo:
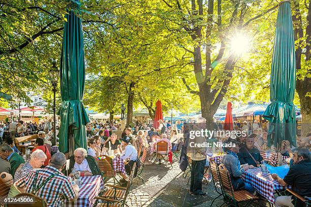
<svg viewBox="0 0 311 207"><path fill-rule="evenodd" d="M71 174L73 168L80 171L81 176L102 175L94 157L87 156L84 148L77 148L69 162L68 174Z"/></svg>

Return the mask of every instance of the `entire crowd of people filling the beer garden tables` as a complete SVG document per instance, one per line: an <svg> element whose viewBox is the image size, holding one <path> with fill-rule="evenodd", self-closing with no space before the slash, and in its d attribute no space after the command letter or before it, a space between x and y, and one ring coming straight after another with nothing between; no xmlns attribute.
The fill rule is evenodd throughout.
<svg viewBox="0 0 311 207"><path fill-rule="evenodd" d="M199 118L198 124L206 124L204 118ZM3 123L0 123L3 124ZM145 164L152 164L151 147L157 147L159 142L167 143L167 152L163 156L158 153L156 157L157 163L161 164L163 159L168 159L168 151L180 149L185 144L186 137L183 137L184 123L177 121L159 120L159 127L154 128L153 124L137 122L133 127L124 128L121 135L117 135L116 131L120 131L119 123L98 123L93 121L86 125L87 150L84 148L75 149L73 155L69 157L69 170L65 172L66 157L63 153L50 151L52 146L51 139L53 130L51 119L46 120L39 126L36 123L31 124L38 134L35 141L34 149L29 160L25 160L21 156L21 152L14 144L14 137L23 134L18 133L18 126L25 123L16 120L7 124L10 136L2 140L0 145L0 171L11 174L14 179L14 185L11 186L9 197L14 197L19 192L36 193L44 198L49 206L61 206L63 199L77 199L79 187L72 185L69 177L72 176L72 170L80 171L81 176L102 175L98 166L99 157L113 151L116 157L125 160L126 174L119 173L122 185L126 185L129 181L129 175L134 163L139 160L144 149L147 150ZM223 123L214 124L216 130L223 130ZM13 129L16 131L13 131ZM230 144L226 148L221 148L226 153L222 159L222 163L229 171L230 179L234 190L247 190L255 193L255 188L241 179L241 175L250 168L258 167L263 160L260 151L267 149L267 132L263 124L254 122L234 123L236 131L246 131L243 135L233 137L221 136L212 137L210 140L224 142ZM1 132L1 130L0 130ZM58 133L58 130L57 130ZM1 133L0 133L1 134ZM242 134L242 133L241 133ZM196 137L201 141L206 141L206 137ZM291 168L288 175L281 179L277 175L272 178L282 185L292 185L293 189L302 196L311 196L309 185L301 180L309 181L311 178L311 161L310 161L310 139L311 133L306 137L300 137L297 140L297 148L291 148L289 142L282 143L282 154L291 157ZM208 157L213 156L213 152L209 148L189 148L186 155L192 160L191 168L191 185L190 191L195 195L205 195L202 191L202 179L204 167L208 166ZM38 168L41 168L38 170ZM37 170L35 170L37 169ZM65 176L68 175L69 177ZM135 170L135 176L137 169ZM51 180L55 182L51 182ZM41 186L41 188L34 188ZM58 191L56 189L63 189ZM276 199L276 206L283 206L284 203L291 206L290 197L279 196ZM284 205L285 206L285 205Z"/></svg>

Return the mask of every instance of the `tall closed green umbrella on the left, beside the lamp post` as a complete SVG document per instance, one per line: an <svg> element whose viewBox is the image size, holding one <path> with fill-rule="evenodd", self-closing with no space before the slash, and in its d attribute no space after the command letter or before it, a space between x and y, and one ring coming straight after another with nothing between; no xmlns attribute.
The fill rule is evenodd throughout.
<svg viewBox="0 0 311 207"><path fill-rule="evenodd" d="M72 153L74 149L87 149L85 125L89 122L82 98L85 82L85 59L79 0L73 4L64 25L63 47L60 57L60 116L59 150Z"/></svg>

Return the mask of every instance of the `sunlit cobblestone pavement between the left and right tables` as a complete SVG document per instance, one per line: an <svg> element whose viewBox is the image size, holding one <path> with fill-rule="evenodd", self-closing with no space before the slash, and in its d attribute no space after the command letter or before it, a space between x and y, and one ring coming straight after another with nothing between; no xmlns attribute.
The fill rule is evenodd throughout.
<svg viewBox="0 0 311 207"><path fill-rule="evenodd" d="M129 206L210 206L212 200L218 195L212 182L203 184L203 191L207 192L206 196L191 195L190 185L187 184L190 173L184 178L177 162L171 167L166 164L146 165L141 176L145 185L141 179L134 179L127 198ZM217 198L213 206L220 206L223 202L222 197ZM243 203L240 206L243 206ZM252 206L269 206L269 202L259 199Z"/></svg>

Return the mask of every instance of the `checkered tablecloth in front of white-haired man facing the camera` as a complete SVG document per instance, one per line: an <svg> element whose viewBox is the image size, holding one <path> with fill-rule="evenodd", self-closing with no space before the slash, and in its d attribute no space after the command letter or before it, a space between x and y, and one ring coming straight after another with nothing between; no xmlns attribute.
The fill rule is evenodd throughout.
<svg viewBox="0 0 311 207"><path fill-rule="evenodd" d="M95 196L104 188L103 179L101 176L81 177L82 186L79 190L79 196L76 201L64 201L64 206L93 206Z"/></svg>

